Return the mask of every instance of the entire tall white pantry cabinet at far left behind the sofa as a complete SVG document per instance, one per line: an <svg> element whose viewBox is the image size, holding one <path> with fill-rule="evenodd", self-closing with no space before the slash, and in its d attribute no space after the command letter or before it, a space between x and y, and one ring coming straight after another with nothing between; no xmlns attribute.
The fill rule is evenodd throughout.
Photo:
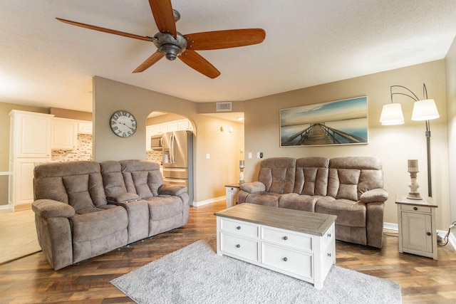
<svg viewBox="0 0 456 304"><path fill-rule="evenodd" d="M33 169L51 161L53 115L12 110L9 145L9 204L13 209L33 201Z"/></svg>

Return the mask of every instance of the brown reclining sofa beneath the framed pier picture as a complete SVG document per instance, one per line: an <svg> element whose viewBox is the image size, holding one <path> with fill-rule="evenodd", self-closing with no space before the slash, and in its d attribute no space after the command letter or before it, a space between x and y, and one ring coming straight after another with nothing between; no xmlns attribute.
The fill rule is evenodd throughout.
<svg viewBox="0 0 456 304"><path fill-rule="evenodd" d="M381 248L388 192L373 157L274 157L261 162L258 182L240 185L239 203L333 214L336 239Z"/></svg>

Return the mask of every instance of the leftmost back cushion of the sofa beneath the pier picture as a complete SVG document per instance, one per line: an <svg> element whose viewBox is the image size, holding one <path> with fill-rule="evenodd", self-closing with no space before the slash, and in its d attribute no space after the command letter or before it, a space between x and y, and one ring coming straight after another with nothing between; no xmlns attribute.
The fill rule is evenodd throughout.
<svg viewBox="0 0 456 304"><path fill-rule="evenodd" d="M259 169L258 181L266 187L266 192L291 193L294 189L296 159L272 157L264 159Z"/></svg>

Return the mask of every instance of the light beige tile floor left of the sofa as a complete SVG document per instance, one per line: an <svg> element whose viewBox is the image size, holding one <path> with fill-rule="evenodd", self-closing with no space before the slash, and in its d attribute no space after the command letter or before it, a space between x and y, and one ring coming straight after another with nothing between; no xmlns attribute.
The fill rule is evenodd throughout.
<svg viewBox="0 0 456 304"><path fill-rule="evenodd" d="M41 251L33 211L0 213L0 263Z"/></svg>

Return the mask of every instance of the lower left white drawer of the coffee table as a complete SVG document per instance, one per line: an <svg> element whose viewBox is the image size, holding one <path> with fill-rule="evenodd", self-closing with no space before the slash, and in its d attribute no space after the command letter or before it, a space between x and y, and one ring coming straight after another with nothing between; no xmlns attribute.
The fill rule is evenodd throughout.
<svg viewBox="0 0 456 304"><path fill-rule="evenodd" d="M220 250L242 259L259 262L259 241L220 232Z"/></svg>

